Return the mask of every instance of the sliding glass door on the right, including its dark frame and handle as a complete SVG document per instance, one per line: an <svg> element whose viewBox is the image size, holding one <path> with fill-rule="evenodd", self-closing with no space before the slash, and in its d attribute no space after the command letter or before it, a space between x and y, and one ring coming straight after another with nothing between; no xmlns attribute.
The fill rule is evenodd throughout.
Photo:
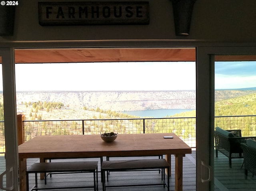
<svg viewBox="0 0 256 191"><path fill-rule="evenodd" d="M250 170L248 176L244 173L240 142L246 139L230 142L225 138L227 135L222 137L227 131L228 136L256 137L255 50L255 47L198 48L198 67L201 67L197 72L198 190L255 190L256 178ZM200 72L202 67L205 74ZM232 135L230 130L235 130ZM232 159L230 152L235 153Z"/></svg>

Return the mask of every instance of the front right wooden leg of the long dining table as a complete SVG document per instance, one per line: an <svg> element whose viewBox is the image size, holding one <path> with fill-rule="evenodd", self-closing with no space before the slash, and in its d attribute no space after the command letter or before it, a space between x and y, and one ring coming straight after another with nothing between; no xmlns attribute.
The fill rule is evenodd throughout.
<svg viewBox="0 0 256 191"><path fill-rule="evenodd" d="M183 154L175 155L175 191L182 191Z"/></svg>

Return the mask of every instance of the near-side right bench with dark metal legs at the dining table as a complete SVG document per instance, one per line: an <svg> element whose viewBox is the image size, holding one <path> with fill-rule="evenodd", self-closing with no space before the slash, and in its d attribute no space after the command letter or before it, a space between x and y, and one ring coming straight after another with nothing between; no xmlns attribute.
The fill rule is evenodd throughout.
<svg viewBox="0 0 256 191"><path fill-rule="evenodd" d="M162 183L150 183L150 184L134 184L134 185L106 185L106 175L105 172L108 171L133 171L133 170L145 170L145 169L168 169L167 172L167 184L165 181L165 173L163 173ZM102 188L103 191L106 187L127 187L127 186L146 186L146 185L164 185L169 191L170 181L169 181L169 170L170 165L165 159L138 159L138 160L112 160L103 161L101 166L101 171L103 174ZM107 179L108 181L108 179Z"/></svg>

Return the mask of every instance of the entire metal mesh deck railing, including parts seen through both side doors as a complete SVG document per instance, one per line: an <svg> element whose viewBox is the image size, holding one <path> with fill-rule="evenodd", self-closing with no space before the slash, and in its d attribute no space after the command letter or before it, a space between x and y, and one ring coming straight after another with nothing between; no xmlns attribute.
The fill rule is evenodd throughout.
<svg viewBox="0 0 256 191"><path fill-rule="evenodd" d="M216 116L214 128L241 129L242 136L256 136L256 116ZM24 141L38 135L169 133L179 136L190 147L196 147L196 117L123 118L80 120L24 120ZM5 152L4 121L0 121L0 153Z"/></svg>

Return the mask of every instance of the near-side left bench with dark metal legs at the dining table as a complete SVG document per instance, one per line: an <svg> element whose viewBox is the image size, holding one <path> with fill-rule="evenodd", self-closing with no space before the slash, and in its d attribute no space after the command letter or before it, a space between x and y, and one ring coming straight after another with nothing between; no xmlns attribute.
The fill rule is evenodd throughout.
<svg viewBox="0 0 256 191"><path fill-rule="evenodd" d="M72 187L38 187L37 173L93 173L94 185L93 186L72 186ZM98 190L98 161L86 161L86 162L51 162L51 163L34 163L26 170L26 184L27 191L29 191L29 173L35 173L35 185L32 190L43 189L71 189L71 188L94 188L94 191ZM46 179L44 179L46 184Z"/></svg>

